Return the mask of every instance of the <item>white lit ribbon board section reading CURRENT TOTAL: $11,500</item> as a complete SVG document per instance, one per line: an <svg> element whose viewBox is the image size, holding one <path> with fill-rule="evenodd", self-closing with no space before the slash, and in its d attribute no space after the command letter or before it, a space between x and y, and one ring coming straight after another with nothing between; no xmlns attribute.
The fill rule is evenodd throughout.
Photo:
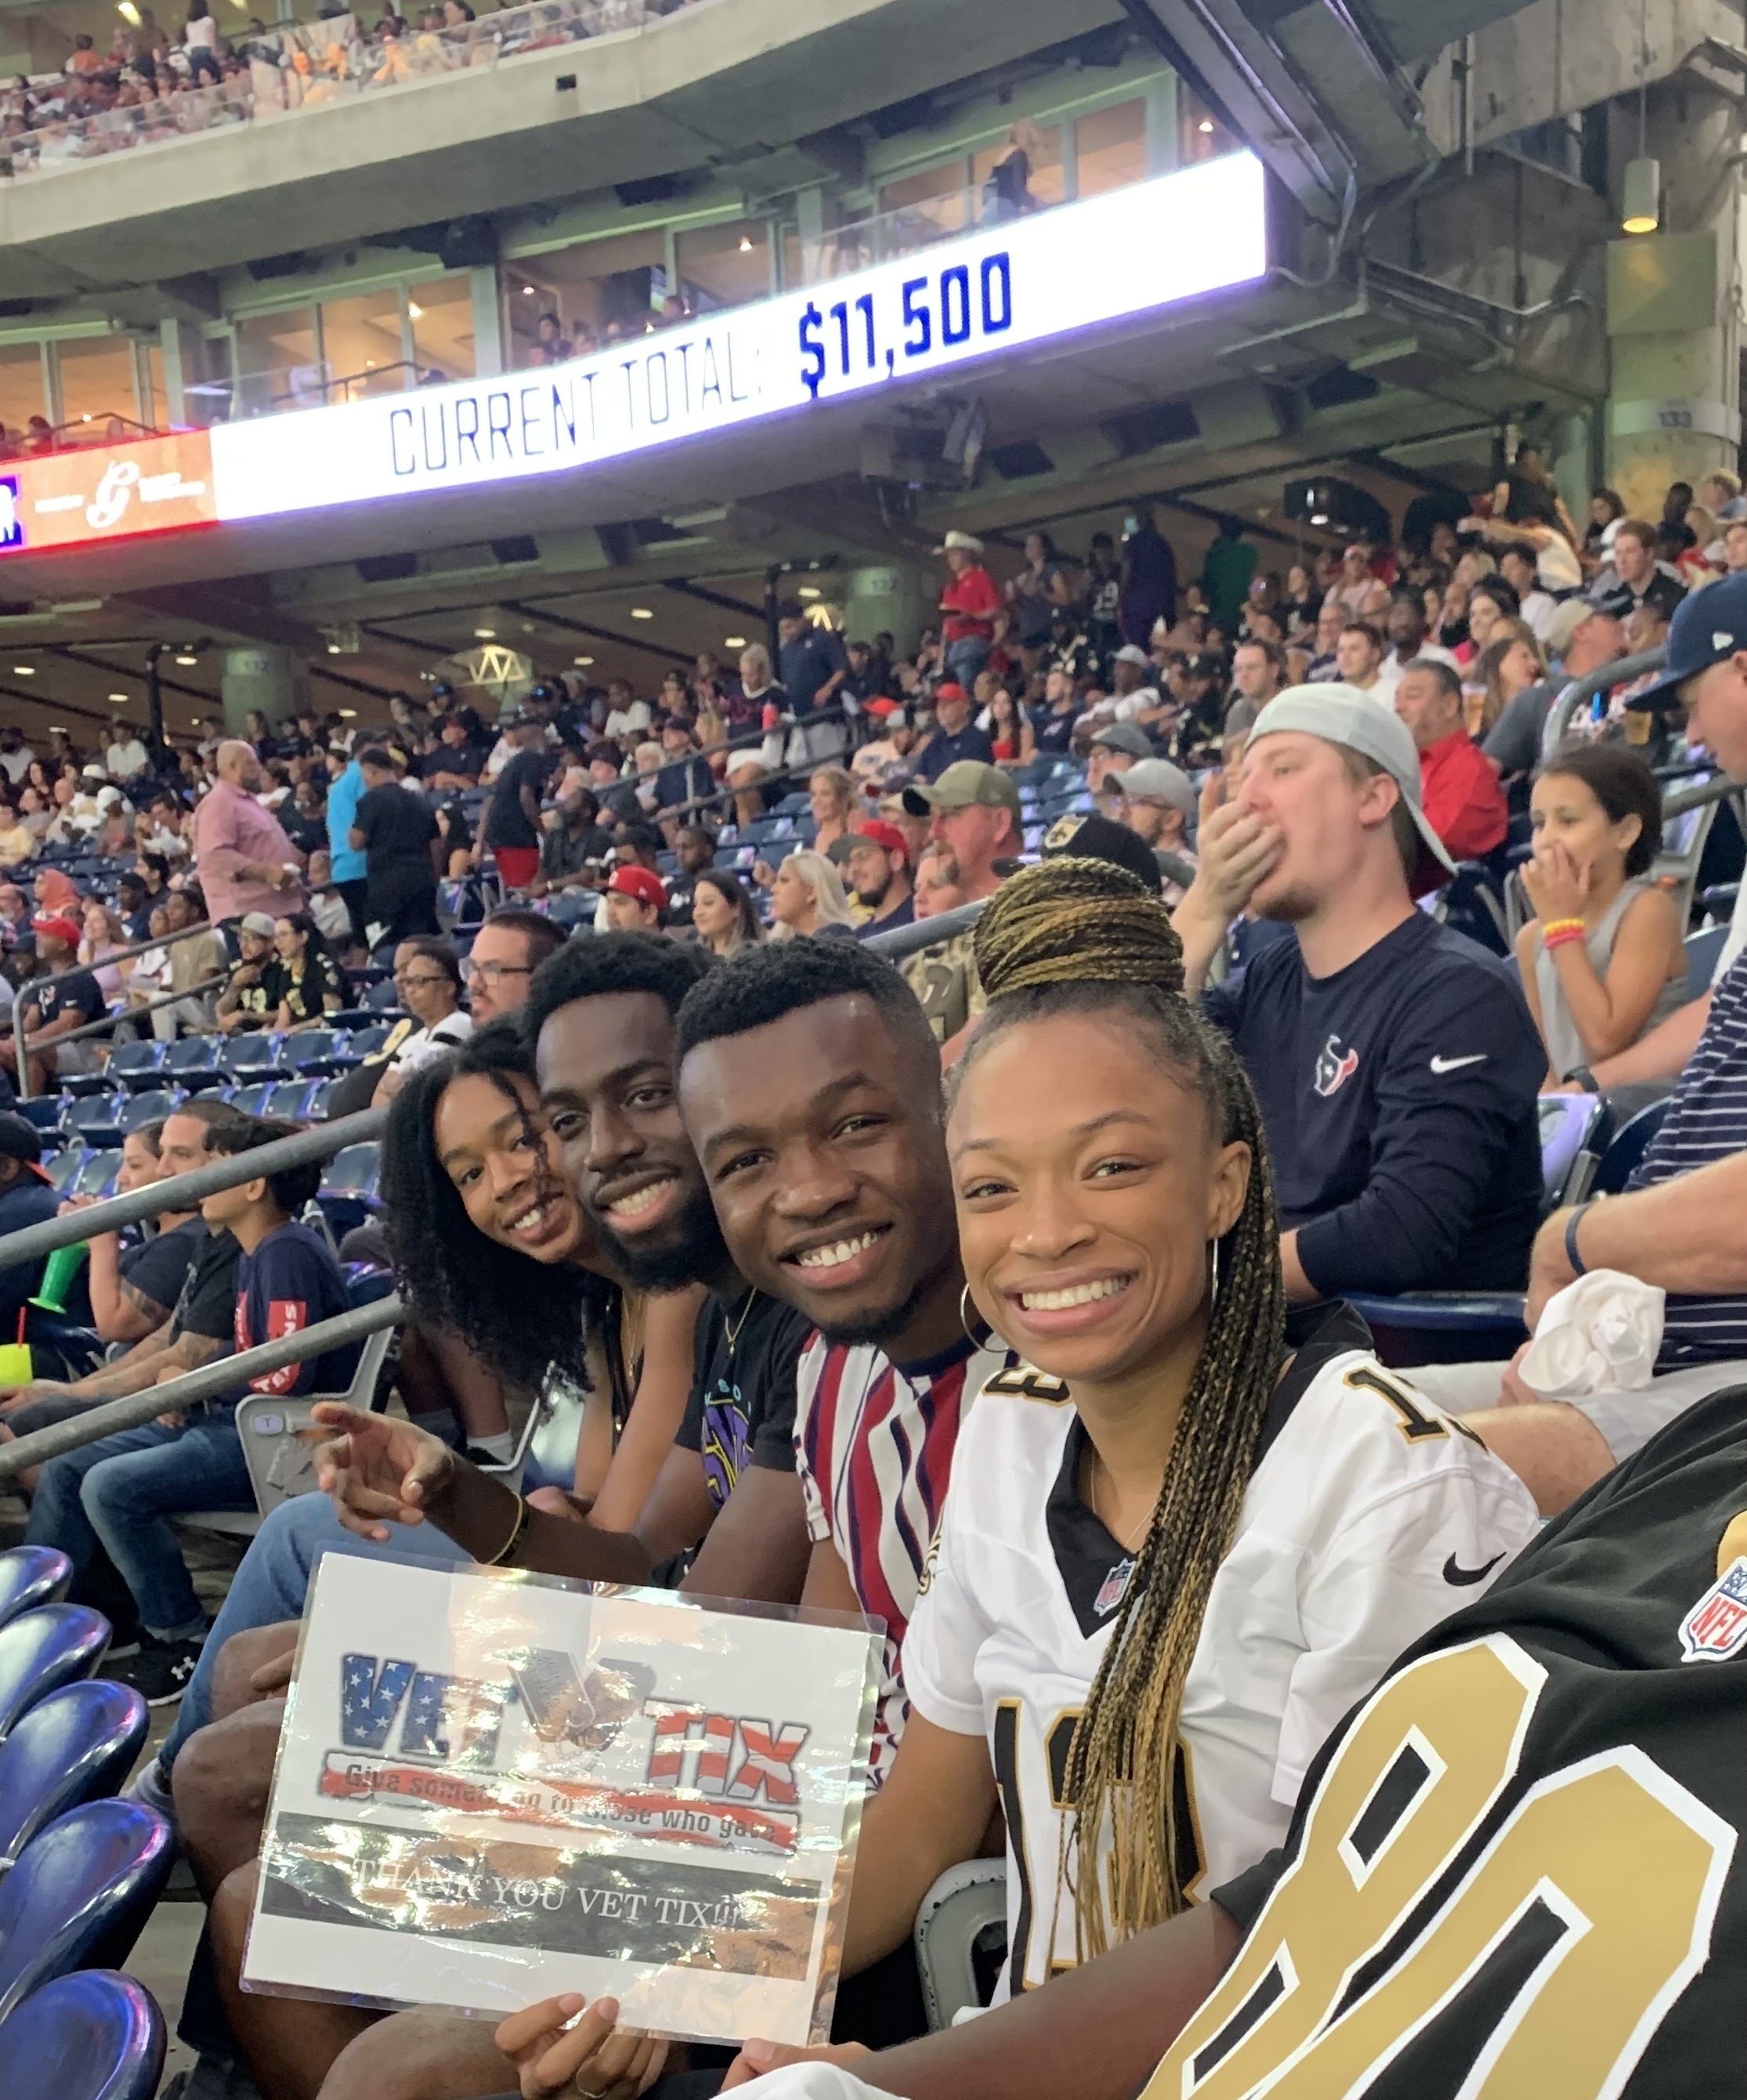
<svg viewBox="0 0 1747 2100"><path fill-rule="evenodd" d="M1262 166L1184 168L552 370L220 424L225 521L559 475L941 378L1266 267Z"/></svg>

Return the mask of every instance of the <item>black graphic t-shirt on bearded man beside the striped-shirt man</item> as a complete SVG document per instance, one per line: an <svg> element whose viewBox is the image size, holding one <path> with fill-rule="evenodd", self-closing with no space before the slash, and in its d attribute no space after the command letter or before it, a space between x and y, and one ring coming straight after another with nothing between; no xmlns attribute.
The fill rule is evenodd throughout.
<svg viewBox="0 0 1747 2100"><path fill-rule="evenodd" d="M731 1340L733 1329L733 1340ZM703 1300L693 1340L699 1367L674 1443L703 1457L720 1510L741 1470L794 1472L794 1382L813 1321L762 1292L722 1304Z"/></svg>

